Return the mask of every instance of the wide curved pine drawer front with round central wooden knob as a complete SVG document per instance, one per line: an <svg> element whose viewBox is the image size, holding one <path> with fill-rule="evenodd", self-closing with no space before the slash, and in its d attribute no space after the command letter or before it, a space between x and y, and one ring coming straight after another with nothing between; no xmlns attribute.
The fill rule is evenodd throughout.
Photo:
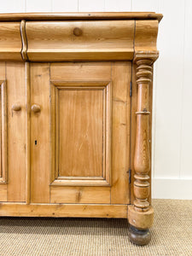
<svg viewBox="0 0 192 256"><path fill-rule="evenodd" d="M131 60L134 20L26 21L30 61Z"/></svg>

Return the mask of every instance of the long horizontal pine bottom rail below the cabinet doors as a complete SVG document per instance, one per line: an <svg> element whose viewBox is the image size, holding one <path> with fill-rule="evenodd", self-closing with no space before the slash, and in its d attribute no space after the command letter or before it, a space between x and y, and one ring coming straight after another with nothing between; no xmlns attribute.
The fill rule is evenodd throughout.
<svg viewBox="0 0 192 256"><path fill-rule="evenodd" d="M20 211L18 211L20 209ZM8 204L0 203L0 216L127 218L126 205Z"/></svg>

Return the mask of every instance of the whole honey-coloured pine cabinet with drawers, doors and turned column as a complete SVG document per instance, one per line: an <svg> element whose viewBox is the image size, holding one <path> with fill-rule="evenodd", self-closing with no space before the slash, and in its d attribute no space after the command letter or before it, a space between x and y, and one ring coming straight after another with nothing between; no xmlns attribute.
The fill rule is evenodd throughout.
<svg viewBox="0 0 192 256"><path fill-rule="evenodd" d="M162 15L0 15L0 216L153 224L153 63Z"/></svg>

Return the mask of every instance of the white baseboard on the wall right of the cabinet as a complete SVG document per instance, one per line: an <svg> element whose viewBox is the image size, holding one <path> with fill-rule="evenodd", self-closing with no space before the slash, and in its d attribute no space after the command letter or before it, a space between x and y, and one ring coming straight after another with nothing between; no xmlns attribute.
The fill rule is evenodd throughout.
<svg viewBox="0 0 192 256"><path fill-rule="evenodd" d="M152 198L192 200L192 179L152 179Z"/></svg>

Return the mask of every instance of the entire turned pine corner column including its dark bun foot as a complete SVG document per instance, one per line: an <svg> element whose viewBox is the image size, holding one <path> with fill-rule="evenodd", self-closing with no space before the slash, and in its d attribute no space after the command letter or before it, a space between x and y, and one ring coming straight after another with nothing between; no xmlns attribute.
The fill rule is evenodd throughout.
<svg viewBox="0 0 192 256"><path fill-rule="evenodd" d="M154 210L148 197L150 192L150 146L149 146L149 87L152 83L154 60L137 58L137 131L134 153L134 196L133 205L128 208L130 239L138 245L150 241Z"/></svg>

